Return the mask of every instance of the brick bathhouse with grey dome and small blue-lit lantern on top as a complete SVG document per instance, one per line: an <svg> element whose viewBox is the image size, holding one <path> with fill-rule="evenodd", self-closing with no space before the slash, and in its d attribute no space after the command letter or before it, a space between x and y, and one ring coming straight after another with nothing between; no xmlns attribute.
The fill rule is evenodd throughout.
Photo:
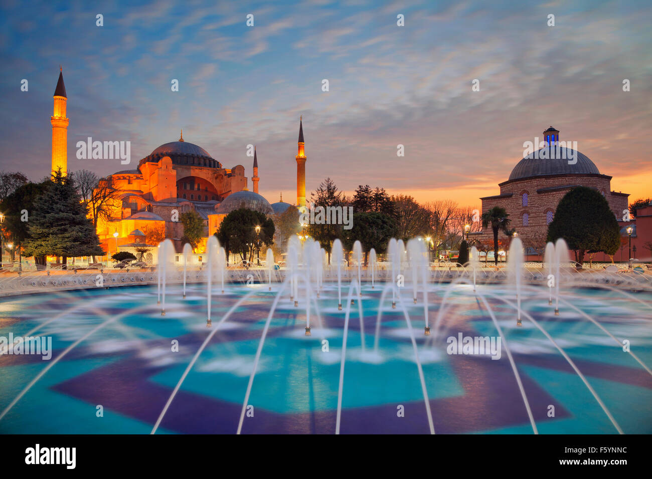
<svg viewBox="0 0 652 479"><path fill-rule="evenodd" d="M511 229L526 247L529 260L541 259L546 245L548 224L554 218L561 198L575 186L588 186L598 190L608 201L615 218L621 227L623 210L627 210L629 194L611 190L612 177L600 173L598 167L588 156L559 143L559 130L550 126L543 132L548 146L522 158L507 181L499 183L500 194L481 198L482 213L493 207L503 207L509 214ZM506 249L509 238L499 233L499 240ZM493 232L489 227L484 231L469 233L469 246L473 240L483 244L493 244ZM503 246L501 246L502 248ZM610 261L604 254L598 254L594 261Z"/></svg>

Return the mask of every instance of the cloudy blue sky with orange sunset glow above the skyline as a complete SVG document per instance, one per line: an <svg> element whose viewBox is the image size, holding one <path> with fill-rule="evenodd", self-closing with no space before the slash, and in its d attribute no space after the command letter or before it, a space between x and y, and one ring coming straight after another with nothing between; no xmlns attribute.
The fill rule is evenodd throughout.
<svg viewBox="0 0 652 479"><path fill-rule="evenodd" d="M649 0L0 5L0 170L35 181L50 171L63 65L72 171L135 168L183 129L248 177L255 144L259 192L294 203L303 115L308 195L331 177L348 194L370 184L479 207L552 125L612 190L652 196ZM76 158L89 136L130 141L130 166Z"/></svg>

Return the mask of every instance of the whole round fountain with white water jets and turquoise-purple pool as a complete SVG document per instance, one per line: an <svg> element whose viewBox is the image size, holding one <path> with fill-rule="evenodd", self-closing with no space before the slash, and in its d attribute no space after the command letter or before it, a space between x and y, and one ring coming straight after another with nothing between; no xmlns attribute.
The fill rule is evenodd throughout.
<svg viewBox="0 0 652 479"><path fill-rule="evenodd" d="M159 428L172 433L434 433L436 418L437 432L527 428L532 433L563 433L572 428L578 433L649 433L652 370L645 364L652 357L649 274L623 273L610 279L597 272L571 272L561 280L569 265L568 249L561 240L546 245L543 267L554 278L549 283L548 275L526 269L522 248L518 237L512 239L505 277L503 271L480 269L475 247L465 268L441 270L431 269L422 241L410 240L404 248L402 242L391 240L387 263L381 263L387 264L381 272L387 281L375 291L378 257L374 250L368 254L366 271L372 289L366 289L364 304L360 300L362 248L353 246L357 264L344 267L339 240L333 242L326 271L325 252L312 239L303 244L289 240L286 263L278 274L271 250L263 269L226 270L224 248L210 237L203 272L189 265L189 245L174 265L175 253L166 240L159 245L157 277L155 272L135 270L104 273L107 285L138 287L96 288L89 295L59 289L63 282L85 278L83 273L23 276L18 279L25 283L21 287L42 294L3 298L0 319L8 321L0 322L5 325L0 326L0 353L14 347L2 338L21 330L16 325L25 321L25 336L53 339L53 360L40 368L33 363L34 375L0 375L0 429L8 433L155 433ZM252 272L261 287L243 285ZM403 274L411 287L403 287L405 278L398 277ZM342 278L350 280L344 291L344 312ZM606 284L605 278L614 282ZM217 281L222 293L226 289L228 294L212 295ZM265 282L273 294L264 291ZM0 286L5 292L11 283L0 278ZM553 287L556 312L560 307L569 312L563 321L542 314L549 308L546 301L552 304ZM288 291L295 306L302 302L301 313L305 300L305 325L287 304ZM203 321L196 313L203 307L204 293L207 326L213 323L210 330L198 324ZM385 302L390 294L393 311ZM351 306L356 295L357 312ZM211 310L213 300L218 309ZM156 319L155 302L162 305L165 321ZM437 311L432 335L430 306ZM350 321L351 313L357 313L359 321ZM516 327L523 321L530 327L517 329L512 320L503 321L514 313ZM424 337L417 338L421 314ZM365 334L364 320L374 316L372 349L365 345L373 332ZM447 331L452 337L497 335L502 345L497 351L505 353L509 367L505 358L501 362L486 356L469 362L470 358L451 355ZM171 352L170 340L177 338L183 338L184 347ZM636 349L623 349L630 341ZM65 360L67 355L74 355L74 361ZM80 360L88 360L87 366L73 368ZM44 375L47 383L40 381ZM522 376L527 376L527 382ZM598 385L623 385L628 394L608 394L604 385L593 389L594 381L589 383L587 377L595 378ZM95 381L106 387L88 387ZM379 386L378 381L387 385ZM57 394L45 398L46 389ZM487 401L488 397L497 399ZM379 414L421 400L424 406L421 411L411 409L409 421L387 422ZM110 405L105 407L125 420L99 425L72 420L71 401ZM152 401L162 405L156 411L158 418L132 407ZM551 401L564 406L555 418L541 413ZM488 405L488 414L477 414L478 403ZM215 407L206 407L211 404ZM233 408L224 407L233 404L242 406L237 431ZM256 405L255 421L246 414L250 405ZM45 406L52 411L46 420L25 419L35 407ZM460 414L446 414L451 410ZM207 411L210 420L204 419ZM316 414L323 414L318 421L305 420Z"/></svg>

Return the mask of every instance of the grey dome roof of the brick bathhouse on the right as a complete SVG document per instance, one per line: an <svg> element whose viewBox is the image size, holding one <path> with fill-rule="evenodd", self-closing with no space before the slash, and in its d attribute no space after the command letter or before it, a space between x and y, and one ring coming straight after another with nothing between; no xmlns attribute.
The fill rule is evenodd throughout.
<svg viewBox="0 0 652 479"><path fill-rule="evenodd" d="M514 169L512 169L509 180L518 180L529 177L548 176L548 175L599 175L598 167L585 154L570 148L559 148L559 156L555 153L556 158L541 158L539 150L520 160ZM554 151L551 149L550 151ZM574 161L574 155L577 155L577 163L569 164L569 160ZM550 155L548 155L550 156Z"/></svg>

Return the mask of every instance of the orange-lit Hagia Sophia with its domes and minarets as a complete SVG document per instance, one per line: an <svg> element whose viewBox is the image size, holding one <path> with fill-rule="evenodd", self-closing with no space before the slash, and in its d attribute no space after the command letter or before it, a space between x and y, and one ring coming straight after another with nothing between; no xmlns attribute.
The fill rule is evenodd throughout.
<svg viewBox="0 0 652 479"><path fill-rule="evenodd" d="M67 171L67 94L63 71L54 93L52 122L52 171ZM253 191L247 188L248 177L242 165L224 167L205 149L183 139L164 143L142 158L135 169L117 171L102 179L119 190L120 199L114 205L110 220L98 219L97 234L102 248L109 255L116 248L130 250L138 246L151 246L145 233L158 229L175 243L181 251L183 224L175 221L186 211L194 210L204 221L204 238L198 252L205 249L209 235L215 233L226 215L246 207L278 218L289 207L306 204L307 157L304 152L303 118L299 119L297 162L297 203L282 201L270 203L258 194L258 152L254 149L252 165ZM175 213L176 211L176 213ZM145 233L143 233L145 231ZM116 246L117 233L117 246ZM278 237L276 238L278 239ZM152 257L148 257L152 261ZM149 262L148 261L148 262Z"/></svg>

